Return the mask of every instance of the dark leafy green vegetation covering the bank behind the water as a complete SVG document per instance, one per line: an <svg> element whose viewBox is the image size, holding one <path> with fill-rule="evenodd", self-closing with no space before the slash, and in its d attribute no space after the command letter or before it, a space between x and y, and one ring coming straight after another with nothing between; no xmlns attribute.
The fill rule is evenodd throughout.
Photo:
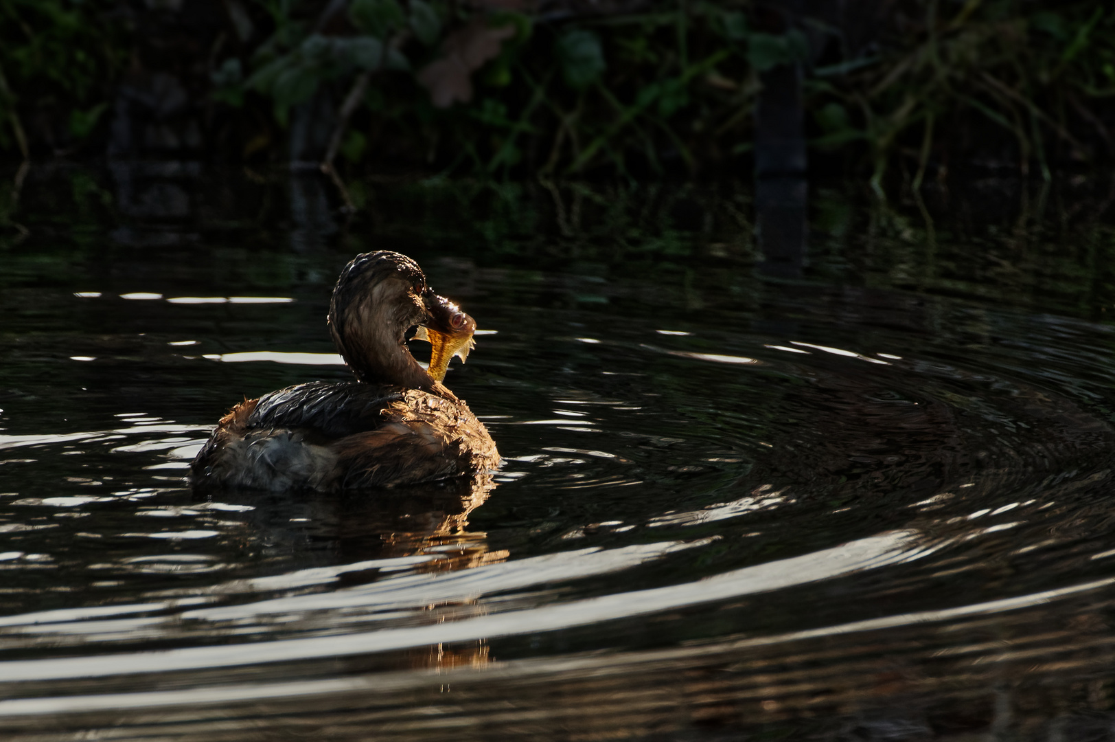
<svg viewBox="0 0 1115 742"><path fill-rule="evenodd" d="M0 0L0 150L112 150L113 112L142 97L128 80L158 73L190 99L202 134L173 141L196 156L738 172L763 74L788 64L804 73L814 161L876 183L969 163L1048 176L1112 155L1107 7L835 4L787 18L752 0ZM192 46L164 42L175 28Z"/></svg>

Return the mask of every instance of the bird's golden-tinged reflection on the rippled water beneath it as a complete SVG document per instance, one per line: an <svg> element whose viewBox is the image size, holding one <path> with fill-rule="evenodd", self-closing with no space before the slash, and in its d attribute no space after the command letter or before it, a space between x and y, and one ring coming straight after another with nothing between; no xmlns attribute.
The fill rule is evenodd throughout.
<svg viewBox="0 0 1115 742"><path fill-rule="evenodd" d="M468 528L471 513L494 488L492 479L482 475L361 492L223 493L225 504L251 507L240 515L244 560L272 565L279 574L263 578L240 606L216 610L232 610L243 625L280 620L300 634L330 630L339 616L349 629L365 625L371 630L400 621L414 626L484 615L482 590L468 587L448 596L435 588L428 601L411 597L400 604L398 596L425 592L423 585L435 572L508 559L507 550L489 547L487 533ZM195 490L198 499L211 494ZM377 669L453 667L483 664L487 653L486 644L477 640L455 644L453 652L430 646L340 662Z"/></svg>

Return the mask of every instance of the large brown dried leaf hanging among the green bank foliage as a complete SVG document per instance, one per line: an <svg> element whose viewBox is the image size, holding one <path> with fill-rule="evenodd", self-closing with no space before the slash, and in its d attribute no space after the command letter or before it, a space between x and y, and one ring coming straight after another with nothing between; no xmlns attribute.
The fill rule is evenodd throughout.
<svg viewBox="0 0 1115 742"><path fill-rule="evenodd" d="M442 58L426 65L418 73L418 83L429 90L434 106L448 108L454 100L472 100L473 83L469 75L498 56L503 42L514 35L514 26L492 28L484 19L474 18L445 37Z"/></svg>

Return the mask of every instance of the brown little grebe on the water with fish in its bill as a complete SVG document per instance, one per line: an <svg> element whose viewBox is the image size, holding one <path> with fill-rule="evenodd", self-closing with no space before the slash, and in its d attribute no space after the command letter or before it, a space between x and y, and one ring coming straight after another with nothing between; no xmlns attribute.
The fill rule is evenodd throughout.
<svg viewBox="0 0 1115 742"><path fill-rule="evenodd" d="M406 333L433 346L429 370ZM197 485L284 490L391 486L483 473L495 443L442 380L476 322L398 252L357 256L337 279L329 330L356 382L310 382L248 399L191 464Z"/></svg>

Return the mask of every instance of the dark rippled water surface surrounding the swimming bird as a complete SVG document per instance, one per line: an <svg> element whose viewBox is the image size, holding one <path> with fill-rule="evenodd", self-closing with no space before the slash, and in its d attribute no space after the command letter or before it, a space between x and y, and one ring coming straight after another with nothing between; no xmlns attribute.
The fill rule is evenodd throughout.
<svg viewBox="0 0 1115 742"><path fill-rule="evenodd" d="M32 177L2 739L1111 739L1107 202L946 195L815 191L785 280L739 189ZM494 486L192 492L229 406L347 377L380 248L477 319Z"/></svg>

